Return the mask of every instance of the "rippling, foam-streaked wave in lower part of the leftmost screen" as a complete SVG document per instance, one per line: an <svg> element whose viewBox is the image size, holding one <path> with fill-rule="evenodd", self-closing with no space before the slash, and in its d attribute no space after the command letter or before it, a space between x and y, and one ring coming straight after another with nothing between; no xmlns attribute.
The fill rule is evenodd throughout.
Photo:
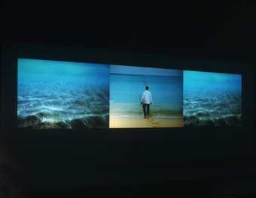
<svg viewBox="0 0 256 198"><path fill-rule="evenodd" d="M84 127L108 127L108 86L66 87L50 83L47 87L35 83L26 89L22 87L21 91L17 109L19 127L72 128L78 120L83 120Z"/></svg>

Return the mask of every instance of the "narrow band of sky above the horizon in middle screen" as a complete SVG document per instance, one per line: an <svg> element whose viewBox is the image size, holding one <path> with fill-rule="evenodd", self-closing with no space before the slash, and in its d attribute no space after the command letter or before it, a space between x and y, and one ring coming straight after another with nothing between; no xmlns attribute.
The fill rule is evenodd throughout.
<svg viewBox="0 0 256 198"><path fill-rule="evenodd" d="M183 71L160 69L160 68L144 68L124 65L110 65L110 74L130 74L145 76L162 76L162 77L181 77Z"/></svg>

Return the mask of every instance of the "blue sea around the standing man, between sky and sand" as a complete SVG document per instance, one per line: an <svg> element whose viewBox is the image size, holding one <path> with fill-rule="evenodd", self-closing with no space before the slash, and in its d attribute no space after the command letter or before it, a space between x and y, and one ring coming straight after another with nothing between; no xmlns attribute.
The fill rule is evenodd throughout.
<svg viewBox="0 0 256 198"><path fill-rule="evenodd" d="M110 75L110 116L142 117L140 104L145 86L149 86L153 104L151 117L181 118L183 85L182 76Z"/></svg>

